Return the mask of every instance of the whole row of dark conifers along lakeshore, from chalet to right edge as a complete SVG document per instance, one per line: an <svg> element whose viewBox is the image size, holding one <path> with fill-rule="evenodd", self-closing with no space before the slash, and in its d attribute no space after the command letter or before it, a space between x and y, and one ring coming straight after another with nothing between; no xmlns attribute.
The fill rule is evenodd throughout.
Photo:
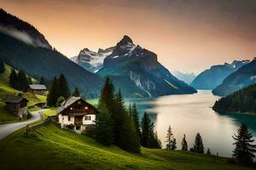
<svg viewBox="0 0 256 170"><path fill-rule="evenodd" d="M126 109L120 90L116 94L113 91L113 84L107 77L99 98L100 114L96 116L96 141L105 145L116 144L121 149L131 152L140 152L141 145L147 148L162 148L157 132L154 132L154 122L150 122L148 114L145 112L140 122L136 104L129 105ZM245 124L241 124L233 138L236 140L233 156L242 163L253 162L256 145L252 144L253 135L248 132ZM195 135L195 143L190 149L185 134L181 145L181 150L205 153L200 133ZM166 133L166 150L176 149L177 140L173 136L172 127L169 126ZM206 153L212 154L209 148Z"/></svg>

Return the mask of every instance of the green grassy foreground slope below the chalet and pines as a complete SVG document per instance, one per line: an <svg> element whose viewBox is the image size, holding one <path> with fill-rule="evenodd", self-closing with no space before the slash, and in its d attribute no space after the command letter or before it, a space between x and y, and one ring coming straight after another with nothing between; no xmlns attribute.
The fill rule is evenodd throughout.
<svg viewBox="0 0 256 170"><path fill-rule="evenodd" d="M15 162L15 163L14 163ZM228 164L226 158L192 152L149 150L131 154L116 146L61 130L53 124L26 138L23 131L0 141L3 169L249 169Z"/></svg>

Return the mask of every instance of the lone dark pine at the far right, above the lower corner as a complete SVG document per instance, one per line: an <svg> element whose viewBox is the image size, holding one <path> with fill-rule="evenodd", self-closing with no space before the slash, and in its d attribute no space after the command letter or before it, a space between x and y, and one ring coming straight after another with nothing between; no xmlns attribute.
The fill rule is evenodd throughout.
<svg viewBox="0 0 256 170"><path fill-rule="evenodd" d="M233 156L236 157L241 163L253 162L256 152L256 145L253 144L254 139L252 133L249 133L247 126L242 123L237 130L237 134L233 136L235 139L235 150Z"/></svg>

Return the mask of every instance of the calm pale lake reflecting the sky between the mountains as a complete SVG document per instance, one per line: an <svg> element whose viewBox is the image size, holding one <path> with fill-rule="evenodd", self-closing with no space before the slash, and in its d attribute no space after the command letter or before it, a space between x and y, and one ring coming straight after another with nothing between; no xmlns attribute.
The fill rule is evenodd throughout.
<svg viewBox="0 0 256 170"><path fill-rule="evenodd" d="M165 147L166 131L172 127L177 139L177 149L181 148L183 134L189 144L194 144L195 134L201 133L205 150L210 148L212 154L231 156L234 149L232 135L236 133L240 122L247 124L256 139L256 116L243 114L219 114L212 111L212 105L218 96L209 90L197 94L169 95L155 99L125 99L126 103L136 103L140 112L147 111L155 123L155 130Z"/></svg>

